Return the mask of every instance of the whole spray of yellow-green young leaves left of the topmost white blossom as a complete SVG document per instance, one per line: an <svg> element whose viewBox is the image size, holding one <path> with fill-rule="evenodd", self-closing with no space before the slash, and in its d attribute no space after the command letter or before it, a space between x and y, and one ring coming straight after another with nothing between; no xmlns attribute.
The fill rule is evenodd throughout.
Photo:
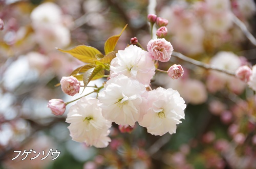
<svg viewBox="0 0 256 169"><path fill-rule="evenodd" d="M76 59L86 63L86 65L75 69L70 76L74 76L78 80L83 80L84 87L86 87L91 80L104 77L104 70L110 69L110 63L112 59L116 57L114 49L126 26L127 24L123 27L123 30L119 35L114 35L106 40L104 45L105 55L98 49L87 45L79 45L70 50L58 49L59 51L69 53Z"/></svg>

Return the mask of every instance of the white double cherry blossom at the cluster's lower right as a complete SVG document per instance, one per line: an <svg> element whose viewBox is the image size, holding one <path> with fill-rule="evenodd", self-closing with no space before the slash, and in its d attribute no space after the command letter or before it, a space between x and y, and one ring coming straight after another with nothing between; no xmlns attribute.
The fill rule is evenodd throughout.
<svg viewBox="0 0 256 169"><path fill-rule="evenodd" d="M176 125L185 118L186 104L180 94L173 89L159 87L148 92L147 101L149 108L139 124L154 135L176 133Z"/></svg>

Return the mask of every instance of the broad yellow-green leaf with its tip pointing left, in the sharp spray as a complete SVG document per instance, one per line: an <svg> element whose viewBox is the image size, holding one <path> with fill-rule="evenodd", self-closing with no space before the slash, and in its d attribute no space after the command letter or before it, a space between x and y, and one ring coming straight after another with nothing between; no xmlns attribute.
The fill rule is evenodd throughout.
<svg viewBox="0 0 256 169"><path fill-rule="evenodd" d="M97 60L95 55L102 54L98 49L91 46L86 46L86 45L79 45L70 50L62 50L62 49L58 49L58 50L69 53L73 57L75 57L76 59L79 59L84 63L92 63L92 64L94 64L94 61Z"/></svg>

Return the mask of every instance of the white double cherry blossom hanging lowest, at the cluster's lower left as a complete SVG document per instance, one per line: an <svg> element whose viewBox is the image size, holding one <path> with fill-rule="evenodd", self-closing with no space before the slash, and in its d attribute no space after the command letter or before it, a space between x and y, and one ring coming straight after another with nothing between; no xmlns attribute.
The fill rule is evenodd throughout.
<svg viewBox="0 0 256 169"><path fill-rule="evenodd" d="M67 123L73 140L87 146L103 148L111 141L108 137L111 122L104 119L96 98L81 98L69 109Z"/></svg>

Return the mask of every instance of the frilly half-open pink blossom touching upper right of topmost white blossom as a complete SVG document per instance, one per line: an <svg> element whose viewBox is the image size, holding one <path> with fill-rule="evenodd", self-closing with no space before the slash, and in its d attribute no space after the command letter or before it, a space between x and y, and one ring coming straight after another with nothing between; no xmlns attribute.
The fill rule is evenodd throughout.
<svg viewBox="0 0 256 169"><path fill-rule="evenodd" d="M152 39L147 43L147 51L150 52L151 57L156 61L168 62L173 50L173 45L164 38Z"/></svg>

